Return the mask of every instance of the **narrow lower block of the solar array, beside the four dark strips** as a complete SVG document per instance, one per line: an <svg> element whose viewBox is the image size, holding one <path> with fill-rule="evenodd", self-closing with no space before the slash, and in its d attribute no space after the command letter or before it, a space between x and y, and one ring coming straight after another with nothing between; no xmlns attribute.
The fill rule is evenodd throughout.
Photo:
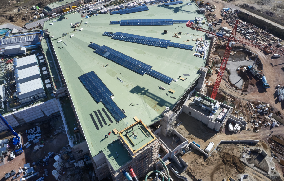
<svg viewBox="0 0 284 181"><path fill-rule="evenodd" d="M115 102L112 100L112 98L107 97L103 101L103 104L106 106L110 114L116 119L117 121L120 121L127 116L120 110L120 108L115 104Z"/></svg>

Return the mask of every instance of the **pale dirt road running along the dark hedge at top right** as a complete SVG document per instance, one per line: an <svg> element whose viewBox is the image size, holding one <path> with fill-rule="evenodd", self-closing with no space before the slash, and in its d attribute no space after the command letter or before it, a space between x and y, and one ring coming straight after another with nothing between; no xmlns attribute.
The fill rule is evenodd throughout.
<svg viewBox="0 0 284 181"><path fill-rule="evenodd" d="M245 13L249 13L249 14L252 15L253 17L259 18L259 19L264 20L264 21L266 21L266 22L268 22L268 23L270 23L270 24L272 24L272 25L274 25L274 26L277 26L277 27L279 27L279 28L281 28L281 29L284 29L284 26L281 26L280 24L277 24L277 23L275 23L275 22L273 22L273 21L271 21L271 20L268 20L268 19L266 19L266 18L263 18L263 17L261 17L261 16L258 16L258 15L256 15L256 14L254 14L254 13L251 13L251 12L249 12L249 11L243 9L243 8L240 8L240 7L236 6L235 3L227 3L227 2L222 1L222 0L214 0L214 1L209 1L209 2L210 2L211 5L216 5L216 9L217 9L217 8L220 9L220 8L218 7L218 6L220 6L220 4L222 4L222 5L221 5L222 8L223 8L223 7L229 7L229 8L231 8L231 9L240 9L241 11L243 11L243 12L245 12ZM216 3L216 2L218 2L218 3ZM220 11L215 11L215 12L218 12L218 14L219 14ZM220 15L220 14L219 14L219 15Z"/></svg>

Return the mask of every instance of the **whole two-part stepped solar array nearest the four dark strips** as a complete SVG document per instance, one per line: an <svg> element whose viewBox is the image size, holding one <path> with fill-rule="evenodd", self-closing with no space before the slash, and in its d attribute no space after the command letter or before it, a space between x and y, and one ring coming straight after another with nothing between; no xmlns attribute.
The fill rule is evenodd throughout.
<svg viewBox="0 0 284 181"><path fill-rule="evenodd" d="M110 114L112 114L112 116L117 121L120 121L123 118L126 118L122 110L120 110L120 108L115 104L112 98L110 98L110 96L113 96L112 92L110 92L110 90L106 87L103 81L101 81L101 79L97 76L97 74L95 74L94 71L85 73L84 75L81 75L78 78L83 83L85 88L89 91L91 96L95 99L95 101L97 103L103 102L103 104L106 106ZM97 116L96 112L95 112L95 115ZM102 124L101 124L101 127L102 127Z"/></svg>

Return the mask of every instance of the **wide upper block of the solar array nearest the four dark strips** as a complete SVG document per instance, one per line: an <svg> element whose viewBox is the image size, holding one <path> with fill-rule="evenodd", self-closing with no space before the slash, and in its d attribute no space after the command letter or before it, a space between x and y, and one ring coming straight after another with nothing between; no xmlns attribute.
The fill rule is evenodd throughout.
<svg viewBox="0 0 284 181"><path fill-rule="evenodd" d="M113 96L112 92L110 92L94 71L81 75L79 79L97 103L101 102L106 97Z"/></svg>

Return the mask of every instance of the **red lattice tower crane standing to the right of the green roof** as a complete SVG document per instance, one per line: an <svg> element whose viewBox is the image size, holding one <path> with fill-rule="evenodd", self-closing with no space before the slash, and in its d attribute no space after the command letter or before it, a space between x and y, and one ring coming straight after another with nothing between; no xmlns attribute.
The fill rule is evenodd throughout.
<svg viewBox="0 0 284 181"><path fill-rule="evenodd" d="M275 53L275 54L284 55L283 50L281 50L279 48L267 46L265 44L254 42L252 40L247 40L247 39L242 38L242 37L236 38L237 25L238 25L238 20L236 21L236 24L235 24L235 26L232 30L231 35L230 36L224 36L221 33L218 33L218 32L216 33L216 32L210 31L210 30L203 29L200 26L197 26L196 24L194 24L194 22L189 21L189 22L186 23L186 26L189 27L189 28L192 28L193 30L202 31L202 32L212 34L212 35L215 35L215 36L219 36L219 37L222 37L222 38L225 38L225 39L228 40L223 59L221 61L220 70L219 70L219 73L218 73L218 76L217 76L217 79L215 81L215 85L214 85L214 88L213 88L213 91L212 91L212 94L211 94L211 98L213 98L213 99L215 99L215 97L216 97L216 94L217 94L217 91L219 89L224 71L226 69L226 65L227 65L231 50L232 50L235 43L241 43L241 44L244 44L244 45L248 45L248 46L258 48L260 50L264 50L266 52L272 52L272 53Z"/></svg>

